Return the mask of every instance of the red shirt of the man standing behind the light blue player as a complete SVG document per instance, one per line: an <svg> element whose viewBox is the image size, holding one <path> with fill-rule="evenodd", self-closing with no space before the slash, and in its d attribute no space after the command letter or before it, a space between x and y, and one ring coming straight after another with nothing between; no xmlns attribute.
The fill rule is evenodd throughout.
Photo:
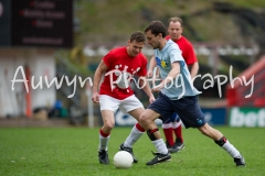
<svg viewBox="0 0 265 176"><path fill-rule="evenodd" d="M169 35L166 36L166 40L169 38ZM194 64L198 61L191 43L184 36L181 36L178 41L173 42L179 45L179 48L182 52L182 57L184 58L187 65Z"/></svg>

